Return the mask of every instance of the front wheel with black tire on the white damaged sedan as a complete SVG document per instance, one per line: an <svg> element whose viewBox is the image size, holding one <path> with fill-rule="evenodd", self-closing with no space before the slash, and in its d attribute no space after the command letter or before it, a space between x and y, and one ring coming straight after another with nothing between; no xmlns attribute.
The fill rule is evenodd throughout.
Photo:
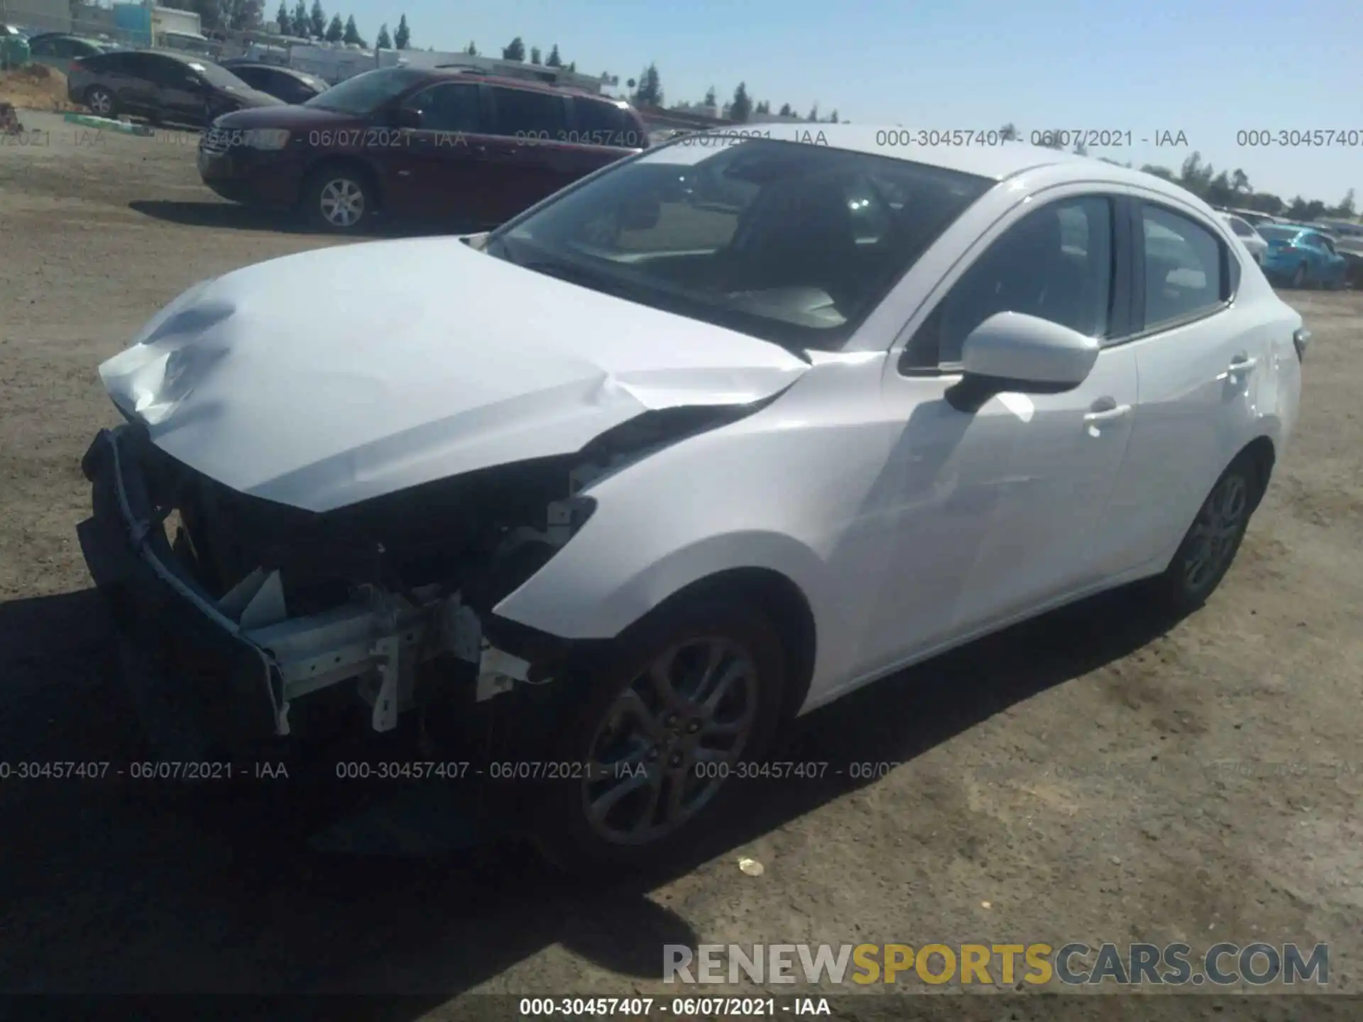
<svg viewBox="0 0 1363 1022"><path fill-rule="evenodd" d="M724 684L701 690L718 700L709 732L703 698L677 702L677 713L664 715L650 668L671 665L673 691L686 692L688 675L702 675L705 683L705 673L692 668L711 650L718 655L709 677ZM541 853L574 873L628 871L686 853L706 830L702 822L713 820L741 788L735 779L740 764L761 760L771 748L782 719L785 672L781 636L766 615L740 600L710 597L660 608L594 664L560 679L560 698L581 694L581 700L556 714L553 754L542 758L583 767L578 777L544 785L534 835ZM658 710L650 713L650 704ZM717 755L721 748L725 759L703 758L705 749ZM673 792L683 805L669 822ZM607 808L593 818L593 804ZM652 822L650 833L624 833L631 824L642 827L641 820Z"/></svg>

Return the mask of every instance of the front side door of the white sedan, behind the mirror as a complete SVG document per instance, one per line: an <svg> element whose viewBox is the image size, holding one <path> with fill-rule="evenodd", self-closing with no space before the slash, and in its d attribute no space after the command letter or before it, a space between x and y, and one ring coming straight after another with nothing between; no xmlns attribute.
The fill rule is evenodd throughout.
<svg viewBox="0 0 1363 1022"><path fill-rule="evenodd" d="M1133 349L1104 347L1063 394L1005 392L962 412L949 391L965 335L996 312L1126 334L1120 211L1124 199L1073 187L1015 207L893 353L883 401L905 431L885 476L894 541L867 642L886 661L1060 602L1100 574L1094 531L1139 405Z"/></svg>

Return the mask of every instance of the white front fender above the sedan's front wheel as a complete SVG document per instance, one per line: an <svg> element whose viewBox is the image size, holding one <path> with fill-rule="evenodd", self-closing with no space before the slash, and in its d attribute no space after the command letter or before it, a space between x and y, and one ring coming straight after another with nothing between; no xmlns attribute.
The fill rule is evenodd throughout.
<svg viewBox="0 0 1363 1022"><path fill-rule="evenodd" d="M904 422L880 420L883 361L834 356L762 412L598 481L587 523L495 612L609 639L694 582L766 568L812 612L816 696L856 669L857 623L885 571L876 484Z"/></svg>

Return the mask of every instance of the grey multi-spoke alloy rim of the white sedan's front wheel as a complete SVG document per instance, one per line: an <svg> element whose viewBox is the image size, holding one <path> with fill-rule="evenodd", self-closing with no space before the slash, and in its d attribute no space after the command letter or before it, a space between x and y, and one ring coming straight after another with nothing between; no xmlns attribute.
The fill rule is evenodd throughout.
<svg viewBox="0 0 1363 1022"><path fill-rule="evenodd" d="M714 797L758 715L751 655L721 638L688 639L620 692L592 739L582 801L615 845L657 841Z"/></svg>

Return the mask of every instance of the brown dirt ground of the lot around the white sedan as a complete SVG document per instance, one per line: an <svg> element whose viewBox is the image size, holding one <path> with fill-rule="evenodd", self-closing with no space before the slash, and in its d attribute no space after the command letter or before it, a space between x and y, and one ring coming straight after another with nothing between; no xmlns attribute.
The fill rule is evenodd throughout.
<svg viewBox="0 0 1363 1022"><path fill-rule="evenodd" d="M328 241L217 202L191 135L22 116L46 135L0 144L0 760L117 766L138 747L74 534L78 461L114 420L95 367L188 285ZM181 804L3 781L0 989L402 992L367 1017L457 1018L489 992L671 996L664 943L1268 940L1329 942L1330 989L1359 992L1363 294L1291 300L1315 331L1298 436L1227 583L1172 631L1116 594L863 691L792 758L887 777L754 786L711 857L613 890L514 843L313 853L286 781ZM1169 1017L1238 1017L1213 1000Z"/></svg>

